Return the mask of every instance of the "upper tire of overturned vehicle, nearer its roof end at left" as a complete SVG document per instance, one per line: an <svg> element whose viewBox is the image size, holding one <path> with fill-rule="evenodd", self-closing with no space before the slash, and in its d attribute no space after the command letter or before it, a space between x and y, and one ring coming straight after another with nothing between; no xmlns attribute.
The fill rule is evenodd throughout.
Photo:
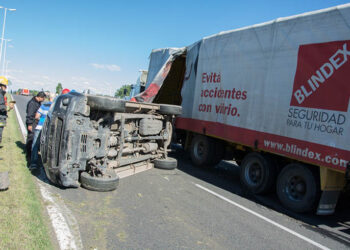
<svg viewBox="0 0 350 250"><path fill-rule="evenodd" d="M91 109L110 112L125 112L125 101L108 96L87 96L87 104Z"/></svg>

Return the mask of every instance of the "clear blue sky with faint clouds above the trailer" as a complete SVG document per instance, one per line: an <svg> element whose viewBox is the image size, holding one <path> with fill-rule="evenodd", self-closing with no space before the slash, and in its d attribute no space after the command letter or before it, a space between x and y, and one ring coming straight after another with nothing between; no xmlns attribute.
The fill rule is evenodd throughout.
<svg viewBox="0 0 350 250"><path fill-rule="evenodd" d="M53 91L61 82L114 94L148 69L152 49L183 47L220 31L347 2L0 0L16 9L6 18L8 77L12 89Z"/></svg>

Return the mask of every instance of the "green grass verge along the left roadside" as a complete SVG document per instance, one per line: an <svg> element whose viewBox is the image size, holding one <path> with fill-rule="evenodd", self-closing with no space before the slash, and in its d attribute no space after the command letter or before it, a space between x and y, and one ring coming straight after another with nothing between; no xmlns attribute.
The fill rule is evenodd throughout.
<svg viewBox="0 0 350 250"><path fill-rule="evenodd" d="M36 177L27 168L16 113L8 115L0 172L9 172L10 187L0 192L0 249L53 249Z"/></svg>

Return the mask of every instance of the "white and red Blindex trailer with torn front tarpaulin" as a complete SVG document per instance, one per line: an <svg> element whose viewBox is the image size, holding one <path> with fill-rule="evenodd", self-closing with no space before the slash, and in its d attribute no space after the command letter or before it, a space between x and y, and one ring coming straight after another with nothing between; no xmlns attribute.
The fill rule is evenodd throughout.
<svg viewBox="0 0 350 250"><path fill-rule="evenodd" d="M334 212L350 171L350 4L155 50L149 72L134 100L181 104L195 165L229 152L252 193Z"/></svg>

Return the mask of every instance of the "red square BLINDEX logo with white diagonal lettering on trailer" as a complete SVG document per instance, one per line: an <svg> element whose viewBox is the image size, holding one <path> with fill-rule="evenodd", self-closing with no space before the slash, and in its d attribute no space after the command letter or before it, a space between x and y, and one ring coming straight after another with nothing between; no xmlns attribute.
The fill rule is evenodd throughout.
<svg viewBox="0 0 350 250"><path fill-rule="evenodd" d="M346 112L350 97L350 40L301 45L291 106Z"/></svg>

